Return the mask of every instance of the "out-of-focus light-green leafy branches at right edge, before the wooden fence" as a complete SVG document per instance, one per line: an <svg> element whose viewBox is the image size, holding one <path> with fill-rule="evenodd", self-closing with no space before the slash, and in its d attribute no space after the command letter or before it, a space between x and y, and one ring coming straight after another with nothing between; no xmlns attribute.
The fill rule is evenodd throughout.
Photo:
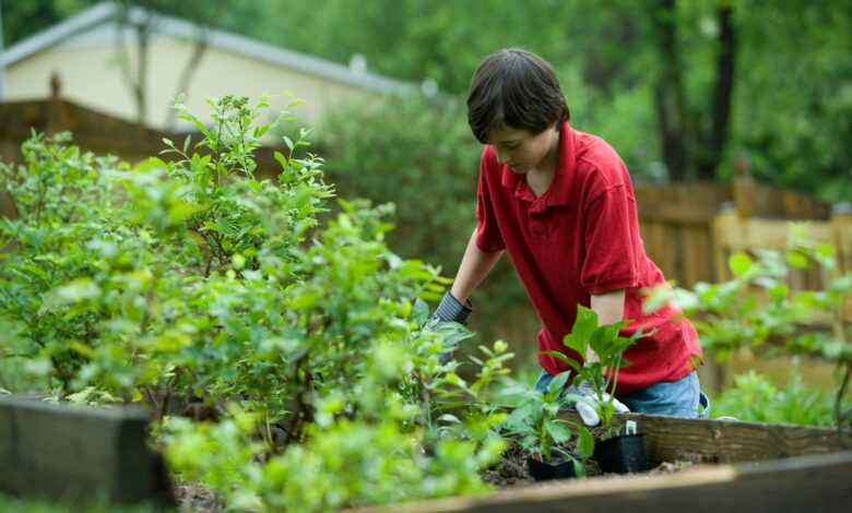
<svg viewBox="0 0 852 513"><path fill-rule="evenodd" d="M702 345L724 360L739 347L770 354L812 355L837 365L833 415L839 430L852 426L848 389L852 374L852 326L843 309L852 296L852 273L840 273L835 250L812 243L804 226L792 225L785 252L759 250L756 259L737 252L729 259L731 281L699 283L693 290L659 288L647 308L674 300L690 318ZM793 270L816 265L825 278L821 290L794 290Z"/></svg>

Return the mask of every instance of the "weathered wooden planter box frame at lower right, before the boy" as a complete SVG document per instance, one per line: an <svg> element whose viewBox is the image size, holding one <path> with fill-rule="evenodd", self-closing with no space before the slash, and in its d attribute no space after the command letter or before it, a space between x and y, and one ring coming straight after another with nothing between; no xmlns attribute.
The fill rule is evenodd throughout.
<svg viewBox="0 0 852 513"><path fill-rule="evenodd" d="M576 414L564 417L579 421ZM636 420L652 464L712 463L676 474L602 476L372 511L806 512L850 511L852 446L833 429L617 415Z"/></svg>

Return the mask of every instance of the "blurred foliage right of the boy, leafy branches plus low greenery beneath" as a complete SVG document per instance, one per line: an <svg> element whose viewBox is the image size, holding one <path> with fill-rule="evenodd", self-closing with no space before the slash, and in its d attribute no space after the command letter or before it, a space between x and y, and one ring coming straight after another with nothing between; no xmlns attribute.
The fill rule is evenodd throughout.
<svg viewBox="0 0 852 513"><path fill-rule="evenodd" d="M805 225L791 224L786 251L757 250L755 255L733 253L729 259L733 278L726 282L698 283L691 290L656 287L644 308L652 311L674 301L695 323L701 346L719 361L748 348L770 357L804 355L833 363L838 387L829 411L838 429L850 434L852 323L843 309L852 294L852 273L838 266L832 246L807 238ZM791 287L793 273L812 267L825 281L820 289ZM821 422L827 415L827 398L803 389L795 379L786 391L777 391L766 379L748 375L737 380L736 389L723 402L725 408L738 411L730 414L736 417ZM813 411L796 413L797 408Z"/></svg>

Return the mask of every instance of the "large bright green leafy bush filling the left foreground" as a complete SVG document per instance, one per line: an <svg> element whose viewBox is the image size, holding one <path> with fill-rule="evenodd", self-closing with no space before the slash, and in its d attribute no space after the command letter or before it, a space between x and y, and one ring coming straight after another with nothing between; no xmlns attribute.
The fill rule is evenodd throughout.
<svg viewBox="0 0 852 513"><path fill-rule="evenodd" d="M273 127L246 98L131 167L36 135L0 167L22 213L0 223L0 320L58 401L145 402L185 478L232 508L328 510L487 490L504 449L488 401L511 358L482 347L471 383L442 362L470 336L427 322L446 286L384 241L389 208L340 202L304 139L256 179ZM304 132L303 132L304 135ZM211 421L176 414L200 403Z"/></svg>

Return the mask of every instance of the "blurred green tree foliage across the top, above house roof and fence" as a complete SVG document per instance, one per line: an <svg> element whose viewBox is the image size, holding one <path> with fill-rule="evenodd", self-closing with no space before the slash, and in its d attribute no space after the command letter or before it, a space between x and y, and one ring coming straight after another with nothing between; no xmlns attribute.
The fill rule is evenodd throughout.
<svg viewBox="0 0 852 513"><path fill-rule="evenodd" d="M4 2L5 41L20 40L94 3ZM413 82L429 77L453 96L464 94L487 53L522 46L556 68L576 127L608 140L642 179L666 175L661 100L654 95L666 85L663 79L676 76L682 83L681 93L664 91L683 96L678 105L688 160L695 163L708 151L721 76L720 12L727 11L734 68L727 144L715 176L730 178L736 163L749 166L765 182L828 201L852 198L849 2L530 0L523 15L510 0L374 0L358 9L347 0L121 3L341 63L360 53L372 71ZM662 38L665 22L673 24L672 44ZM674 60L668 59L673 50Z"/></svg>

